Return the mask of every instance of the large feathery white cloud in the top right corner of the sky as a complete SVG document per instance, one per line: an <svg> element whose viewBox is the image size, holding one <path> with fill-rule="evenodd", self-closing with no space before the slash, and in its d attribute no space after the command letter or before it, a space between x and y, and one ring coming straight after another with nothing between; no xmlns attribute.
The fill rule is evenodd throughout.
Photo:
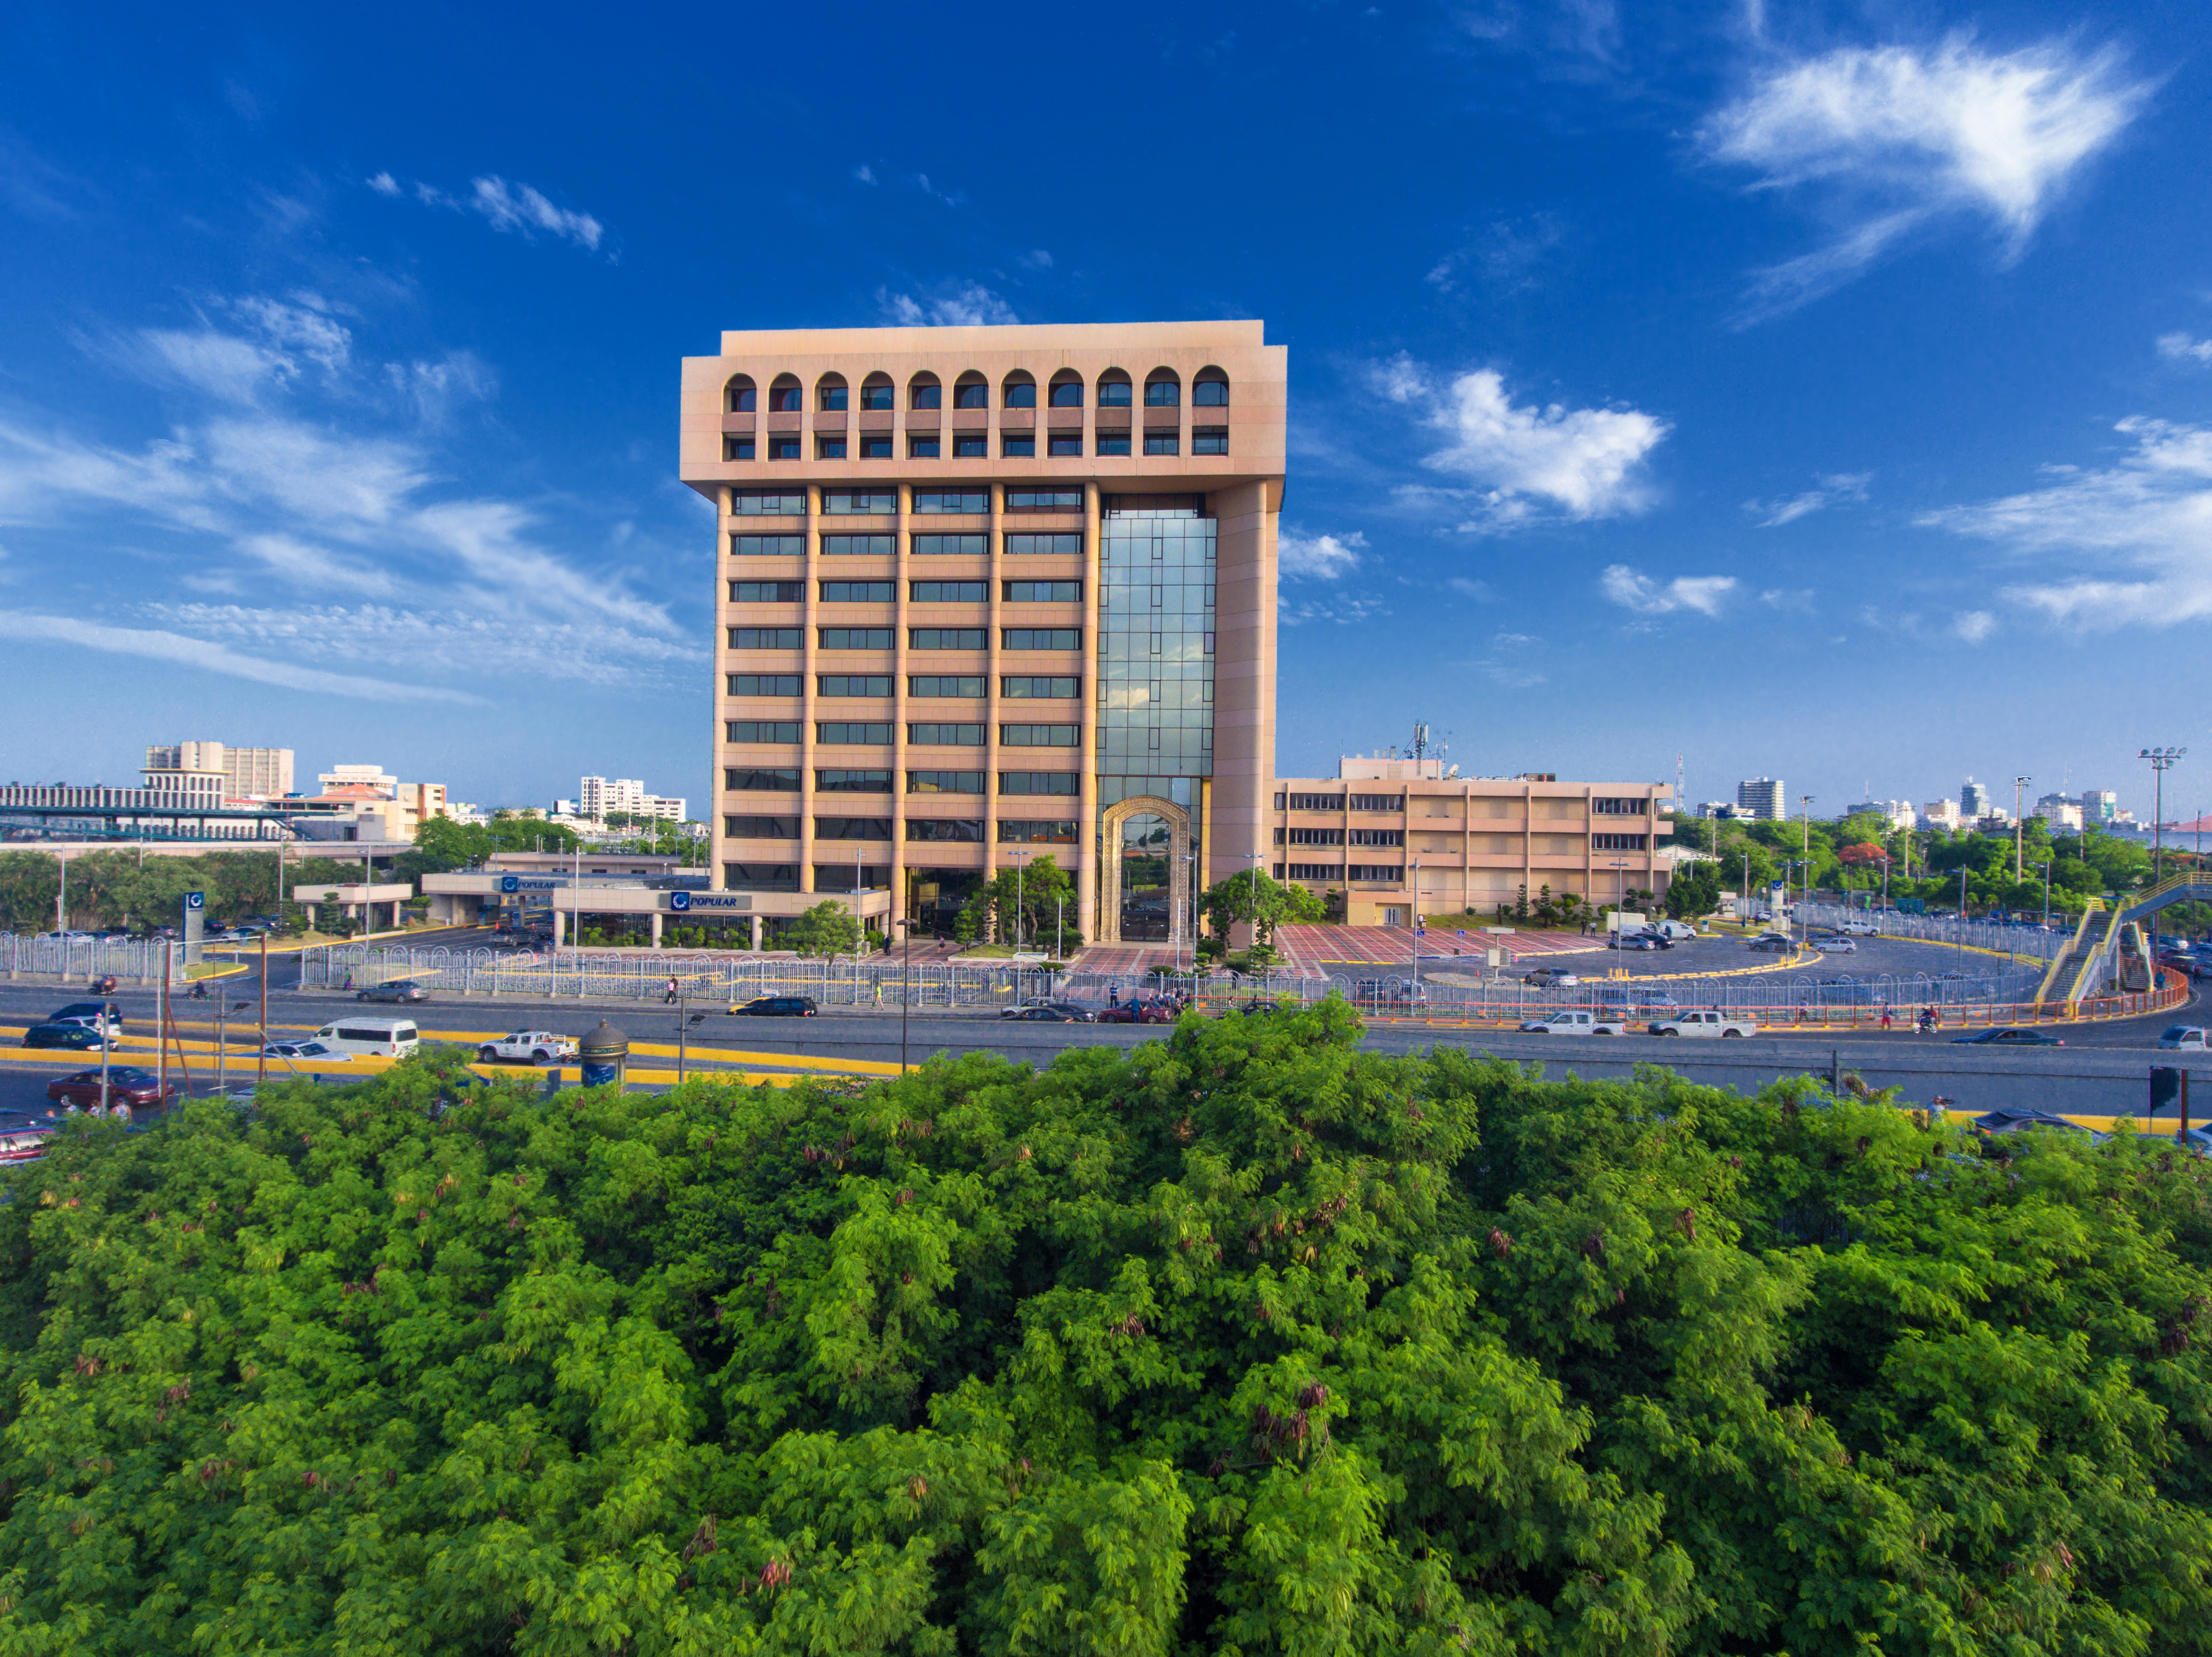
<svg viewBox="0 0 2212 1657"><path fill-rule="evenodd" d="M1805 303L1940 215L1991 221L2017 257L2068 179L2135 119L2148 82L2064 40L1991 53L1838 49L1778 62L1699 137L1761 188L1818 184L1845 221L1827 248L1759 272L1752 314Z"/></svg>

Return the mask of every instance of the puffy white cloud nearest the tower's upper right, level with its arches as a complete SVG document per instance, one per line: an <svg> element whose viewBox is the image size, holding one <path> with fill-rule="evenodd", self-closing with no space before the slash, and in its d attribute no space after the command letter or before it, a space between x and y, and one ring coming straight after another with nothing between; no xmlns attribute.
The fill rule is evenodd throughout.
<svg viewBox="0 0 2212 1657"><path fill-rule="evenodd" d="M1427 425L1447 436L1422 465L1475 484L1484 515L1469 529L1537 518L1540 502L1575 520L1650 504L1639 469L1666 438L1666 420L1639 409L1515 407L1495 369L1438 387L1407 356L1385 363L1376 383L1391 400L1422 409Z"/></svg>

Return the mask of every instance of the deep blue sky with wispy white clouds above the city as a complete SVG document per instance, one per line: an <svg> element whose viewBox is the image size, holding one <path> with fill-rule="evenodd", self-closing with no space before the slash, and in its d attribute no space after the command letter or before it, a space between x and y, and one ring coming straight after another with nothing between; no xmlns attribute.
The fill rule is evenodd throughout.
<svg viewBox="0 0 2212 1657"><path fill-rule="evenodd" d="M1283 772L2212 803L2203 7L208 15L4 24L9 779L703 801L681 356L1261 316Z"/></svg>

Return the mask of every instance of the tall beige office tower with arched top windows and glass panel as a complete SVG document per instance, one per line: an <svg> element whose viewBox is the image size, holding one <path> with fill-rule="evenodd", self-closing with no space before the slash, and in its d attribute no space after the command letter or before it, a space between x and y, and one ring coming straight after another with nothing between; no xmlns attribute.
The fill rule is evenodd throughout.
<svg viewBox="0 0 2212 1657"><path fill-rule="evenodd" d="M719 509L717 885L949 925L1075 867L1181 940L1272 852L1287 352L1261 323L723 334L684 363Z"/></svg>

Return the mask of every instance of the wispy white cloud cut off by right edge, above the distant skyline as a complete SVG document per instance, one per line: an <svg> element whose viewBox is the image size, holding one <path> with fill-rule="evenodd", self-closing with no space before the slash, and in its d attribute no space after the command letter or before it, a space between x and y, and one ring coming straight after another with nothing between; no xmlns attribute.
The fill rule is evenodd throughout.
<svg viewBox="0 0 2212 1657"><path fill-rule="evenodd" d="M2128 418L2135 451L2101 469L2051 467L2051 484L1920 522L2048 555L2066 573L2002 597L2088 631L2212 619L2212 427Z"/></svg>

